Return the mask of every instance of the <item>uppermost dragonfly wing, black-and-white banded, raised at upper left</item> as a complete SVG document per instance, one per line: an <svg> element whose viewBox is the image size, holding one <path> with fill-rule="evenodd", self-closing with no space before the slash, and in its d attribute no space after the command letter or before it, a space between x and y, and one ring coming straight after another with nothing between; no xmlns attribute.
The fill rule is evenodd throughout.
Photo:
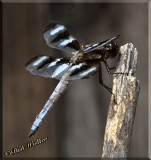
<svg viewBox="0 0 151 160"><path fill-rule="evenodd" d="M44 31L44 39L49 47L75 54L82 49L81 43L68 32L67 28L57 23L50 23Z"/></svg>

